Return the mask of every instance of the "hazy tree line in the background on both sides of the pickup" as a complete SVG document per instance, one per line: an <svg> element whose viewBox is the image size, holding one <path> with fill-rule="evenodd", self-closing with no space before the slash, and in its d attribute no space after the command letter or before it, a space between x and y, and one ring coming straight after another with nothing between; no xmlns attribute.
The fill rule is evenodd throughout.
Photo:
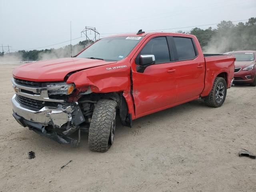
<svg viewBox="0 0 256 192"><path fill-rule="evenodd" d="M256 50L256 18L249 18L247 22L239 22L233 24L231 21L221 21L217 28L209 27L207 29L193 28L189 32L178 31L180 33L188 33L195 35L204 52L208 53L224 53L233 50ZM76 45L72 45L73 54L75 56L84 49L88 44L93 43L92 40L80 41ZM59 49L44 50L19 50L11 53L0 53L0 56L9 54L10 56L21 56L26 60L43 60L49 58L70 57L70 45Z"/></svg>

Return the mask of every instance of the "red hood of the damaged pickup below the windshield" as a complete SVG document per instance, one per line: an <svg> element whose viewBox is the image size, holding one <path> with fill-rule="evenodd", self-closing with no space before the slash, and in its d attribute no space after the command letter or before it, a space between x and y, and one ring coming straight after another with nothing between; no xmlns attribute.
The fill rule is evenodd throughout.
<svg viewBox="0 0 256 192"><path fill-rule="evenodd" d="M86 58L60 58L24 64L14 69L12 73L15 78L29 81L63 81L70 72L112 63L116 62Z"/></svg>

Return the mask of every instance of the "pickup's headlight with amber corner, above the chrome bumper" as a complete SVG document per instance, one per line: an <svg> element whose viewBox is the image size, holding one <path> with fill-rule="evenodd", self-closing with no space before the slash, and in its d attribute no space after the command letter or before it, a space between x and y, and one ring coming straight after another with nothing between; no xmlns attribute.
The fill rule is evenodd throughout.
<svg viewBox="0 0 256 192"><path fill-rule="evenodd" d="M42 87L48 88L48 95L69 95L74 89L74 84L66 84L65 82L42 83ZM56 88L58 87L58 88ZM52 88L52 89L51 89Z"/></svg>

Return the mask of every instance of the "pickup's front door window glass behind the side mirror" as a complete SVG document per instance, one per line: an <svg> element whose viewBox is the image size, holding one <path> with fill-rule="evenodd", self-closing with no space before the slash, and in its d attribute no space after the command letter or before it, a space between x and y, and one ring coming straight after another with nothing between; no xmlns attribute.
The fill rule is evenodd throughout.
<svg viewBox="0 0 256 192"><path fill-rule="evenodd" d="M151 39L141 50L141 55L154 55L157 63L170 62L170 54L166 37Z"/></svg>

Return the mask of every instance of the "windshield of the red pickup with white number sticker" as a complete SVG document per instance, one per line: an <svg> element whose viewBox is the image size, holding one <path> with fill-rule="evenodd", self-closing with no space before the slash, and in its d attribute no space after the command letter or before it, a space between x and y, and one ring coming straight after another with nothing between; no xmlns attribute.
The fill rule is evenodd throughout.
<svg viewBox="0 0 256 192"><path fill-rule="evenodd" d="M125 58L143 37L109 37L103 38L80 53L79 58L119 61Z"/></svg>

